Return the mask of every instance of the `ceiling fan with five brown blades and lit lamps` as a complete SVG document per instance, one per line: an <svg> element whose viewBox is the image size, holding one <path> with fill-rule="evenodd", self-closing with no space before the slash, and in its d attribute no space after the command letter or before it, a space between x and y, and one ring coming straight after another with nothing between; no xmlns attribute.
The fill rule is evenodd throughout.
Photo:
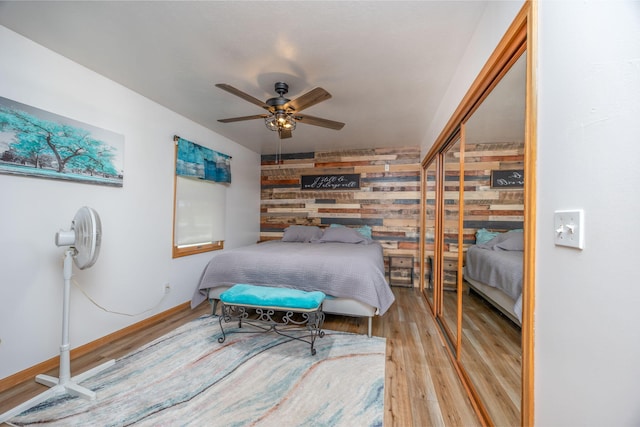
<svg viewBox="0 0 640 427"><path fill-rule="evenodd" d="M278 82L275 84L275 91L278 96L275 98L269 98L264 102L225 83L218 83L216 84L216 87L264 108L269 112L269 114L256 114L253 116L233 117L230 119L218 120L222 123L264 119L267 129L277 131L280 139L291 138L291 131L296 128L296 122L335 130L340 130L344 126L344 123L300 114L300 112L305 108L309 108L331 98L331 94L321 87L312 89L298 98L290 100L284 97L284 95L289 92L289 85L283 82Z"/></svg>

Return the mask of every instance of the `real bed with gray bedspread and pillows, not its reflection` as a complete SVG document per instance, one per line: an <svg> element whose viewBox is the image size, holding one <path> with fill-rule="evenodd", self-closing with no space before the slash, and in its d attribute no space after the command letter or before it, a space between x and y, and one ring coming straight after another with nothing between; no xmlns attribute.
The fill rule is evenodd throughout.
<svg viewBox="0 0 640 427"><path fill-rule="evenodd" d="M383 315L395 297L384 274L382 246L356 229L288 227L282 240L223 250L206 265L191 306L237 283L322 291L325 313L368 319Z"/></svg>

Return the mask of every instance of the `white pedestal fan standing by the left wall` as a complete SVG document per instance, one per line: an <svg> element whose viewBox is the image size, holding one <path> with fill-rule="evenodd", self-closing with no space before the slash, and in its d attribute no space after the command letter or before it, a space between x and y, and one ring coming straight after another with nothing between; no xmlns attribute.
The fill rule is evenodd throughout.
<svg viewBox="0 0 640 427"><path fill-rule="evenodd" d="M100 253L100 243L102 238L102 225L98 213L89 208L82 207L78 210L73 221L71 230L60 230L56 233L56 245L68 246L64 253L64 293L62 301L62 344L60 345L60 377L55 378L49 375L37 375L36 382L51 387L49 390L33 397L32 399L16 406L15 408L0 414L0 423L30 409L46 399L59 395L71 394L93 400L96 393L79 385L80 382L97 374L98 372L112 366L115 360L110 360L102 365L96 366L80 375L71 377L71 360L69 345L69 296L71 290L71 277L73 276L73 263L80 270L91 267L95 264Z"/></svg>

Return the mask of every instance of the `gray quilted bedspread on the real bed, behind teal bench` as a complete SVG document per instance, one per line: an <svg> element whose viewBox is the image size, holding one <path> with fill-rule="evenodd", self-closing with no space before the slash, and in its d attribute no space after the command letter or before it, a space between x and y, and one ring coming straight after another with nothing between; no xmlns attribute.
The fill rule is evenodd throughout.
<svg viewBox="0 0 640 427"><path fill-rule="evenodd" d="M350 243L295 243L279 240L215 254L194 292L191 306L207 290L236 283L322 291L353 298L384 314L395 297L384 275L382 246Z"/></svg>

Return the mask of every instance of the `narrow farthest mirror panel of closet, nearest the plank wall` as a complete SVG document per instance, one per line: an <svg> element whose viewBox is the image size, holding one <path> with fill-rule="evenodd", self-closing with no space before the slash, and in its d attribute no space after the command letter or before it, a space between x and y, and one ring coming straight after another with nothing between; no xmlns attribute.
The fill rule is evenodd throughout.
<svg viewBox="0 0 640 427"><path fill-rule="evenodd" d="M432 161L424 173L424 293L431 309L435 301L435 235L436 235L436 161Z"/></svg>

